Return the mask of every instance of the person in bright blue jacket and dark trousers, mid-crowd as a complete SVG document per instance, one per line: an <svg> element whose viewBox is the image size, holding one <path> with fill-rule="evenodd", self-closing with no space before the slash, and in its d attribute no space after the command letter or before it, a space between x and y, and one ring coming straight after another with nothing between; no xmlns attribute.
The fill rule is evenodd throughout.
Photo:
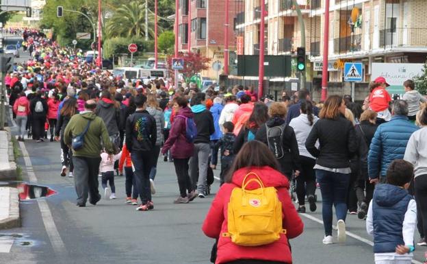
<svg viewBox="0 0 427 264"><path fill-rule="evenodd" d="M215 97L213 99L213 106L209 109L213 117L213 127L215 128L215 132L211 134L211 168L216 169L216 165L218 164L218 141L222 137L222 132L220 128L220 115L222 112L222 99L220 97Z"/></svg>

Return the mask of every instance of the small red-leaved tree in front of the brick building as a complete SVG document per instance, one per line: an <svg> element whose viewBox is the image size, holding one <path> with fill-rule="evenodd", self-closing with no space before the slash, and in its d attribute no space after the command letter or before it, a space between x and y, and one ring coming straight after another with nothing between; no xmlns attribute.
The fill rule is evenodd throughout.
<svg viewBox="0 0 427 264"><path fill-rule="evenodd" d="M168 57L168 70L170 75L174 75L174 71L172 70L172 58L173 56ZM200 73L200 71L205 71L209 69L209 62L211 62L210 58L207 58L200 53L196 52L187 52L180 53L179 58L184 59L184 69L180 70L179 73L182 73L186 80L190 79L196 73Z"/></svg>

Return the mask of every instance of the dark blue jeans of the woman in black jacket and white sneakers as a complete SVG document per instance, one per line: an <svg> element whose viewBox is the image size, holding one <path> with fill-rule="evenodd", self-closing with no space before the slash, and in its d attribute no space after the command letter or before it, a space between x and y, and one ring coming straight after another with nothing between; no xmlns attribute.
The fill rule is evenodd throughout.
<svg viewBox="0 0 427 264"><path fill-rule="evenodd" d="M350 184L350 174L335 173L316 169L316 178L320 184L322 193L322 218L325 235L332 235L332 205L335 206L337 220L346 221L347 204L346 197L348 185Z"/></svg>

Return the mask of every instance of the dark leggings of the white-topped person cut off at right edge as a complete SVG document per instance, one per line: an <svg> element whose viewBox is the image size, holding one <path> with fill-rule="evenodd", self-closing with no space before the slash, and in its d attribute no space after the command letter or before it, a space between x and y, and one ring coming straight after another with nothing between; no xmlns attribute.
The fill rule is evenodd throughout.
<svg viewBox="0 0 427 264"><path fill-rule="evenodd" d="M415 202L417 202L418 232L423 238L427 235L427 174L415 178Z"/></svg>

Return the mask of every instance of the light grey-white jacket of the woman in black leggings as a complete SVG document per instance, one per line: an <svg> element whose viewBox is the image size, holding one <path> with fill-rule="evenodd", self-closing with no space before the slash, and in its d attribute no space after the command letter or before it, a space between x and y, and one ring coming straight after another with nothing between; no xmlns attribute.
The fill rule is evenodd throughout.
<svg viewBox="0 0 427 264"><path fill-rule="evenodd" d="M313 115L313 125L318 120L319 118ZM313 156L311 156L311 154L309 154L307 148L305 148L305 141L307 140L307 137L309 136L313 125L310 125L309 119L307 118L306 114L301 114L298 117L293 118L289 123L289 126L294 128L296 141L298 142L298 150L300 151L300 156L314 158ZM319 143L316 142L315 146L319 147Z"/></svg>

